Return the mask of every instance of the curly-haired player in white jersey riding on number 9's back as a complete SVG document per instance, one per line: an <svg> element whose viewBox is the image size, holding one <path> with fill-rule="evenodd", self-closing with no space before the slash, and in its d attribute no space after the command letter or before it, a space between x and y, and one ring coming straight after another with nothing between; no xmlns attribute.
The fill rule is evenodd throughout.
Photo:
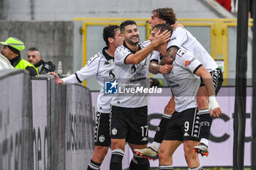
<svg viewBox="0 0 256 170"><path fill-rule="evenodd" d="M149 20L151 27L153 28L159 23L167 23L169 25L173 25L176 23L176 15L173 12L172 8L159 8L155 9L152 12L151 19ZM173 53L177 53L180 47L184 47L184 49L188 50L192 53L200 63L210 72L212 79L214 80L214 88L215 93L219 92L219 88L222 86L222 72L218 68L217 63L211 58L211 55L207 53L200 42L195 39L192 34L189 33L185 28L178 27L173 30L173 34L170 37L170 42L167 45L167 48ZM151 57L151 64L149 67L149 71L153 74L167 74L172 69L170 64L163 64L163 66L158 65L159 63L159 53L154 52L154 55ZM201 122L201 133L200 133L200 144L195 147L195 152L200 153L201 155L208 155L208 137L211 129L212 117L209 115L209 111L213 111L212 115L214 117L219 117L219 115L215 114L214 110L208 109L208 101L215 96L208 96L206 93L206 87L201 80L200 88L197 93L197 107L199 109L198 115L200 115ZM157 128L157 133L154 136L154 142L150 147L143 150L135 150L135 152L140 153L147 158L157 158L157 150L159 145L162 142L163 134L165 132L165 126L167 125L168 120L171 115L175 111L175 102L174 98L170 98L167 106L165 107L164 115L162 116L162 120L159 123Z"/></svg>

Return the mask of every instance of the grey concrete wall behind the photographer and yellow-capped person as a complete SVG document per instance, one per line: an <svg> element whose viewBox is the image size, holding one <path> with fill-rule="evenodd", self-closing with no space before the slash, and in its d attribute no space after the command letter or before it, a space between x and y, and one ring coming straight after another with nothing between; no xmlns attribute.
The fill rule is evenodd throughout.
<svg viewBox="0 0 256 170"><path fill-rule="evenodd" d="M26 49L21 52L22 58L26 59L29 47L37 47L43 60L50 60L56 65L61 61L64 74L73 72L73 21L0 20L0 25L0 41L15 36L25 43Z"/></svg>

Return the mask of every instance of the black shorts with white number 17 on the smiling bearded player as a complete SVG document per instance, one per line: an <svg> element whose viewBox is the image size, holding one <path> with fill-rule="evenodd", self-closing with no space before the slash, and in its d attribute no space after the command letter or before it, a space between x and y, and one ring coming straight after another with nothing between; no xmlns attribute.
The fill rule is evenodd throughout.
<svg viewBox="0 0 256 170"><path fill-rule="evenodd" d="M148 107L111 107L111 139L148 144Z"/></svg>

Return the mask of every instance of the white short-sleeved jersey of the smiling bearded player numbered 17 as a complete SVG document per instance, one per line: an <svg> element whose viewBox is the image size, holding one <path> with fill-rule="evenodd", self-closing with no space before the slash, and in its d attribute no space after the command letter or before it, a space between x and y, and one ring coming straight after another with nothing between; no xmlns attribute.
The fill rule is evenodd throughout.
<svg viewBox="0 0 256 170"><path fill-rule="evenodd" d="M139 43L139 50L148 45L147 42ZM118 82L118 93L113 96L111 104L118 107L137 108L148 105L148 93L136 91L141 88L149 88L148 65L150 55L138 64L127 64L126 58L134 54L127 47L117 47L115 53L115 75Z"/></svg>

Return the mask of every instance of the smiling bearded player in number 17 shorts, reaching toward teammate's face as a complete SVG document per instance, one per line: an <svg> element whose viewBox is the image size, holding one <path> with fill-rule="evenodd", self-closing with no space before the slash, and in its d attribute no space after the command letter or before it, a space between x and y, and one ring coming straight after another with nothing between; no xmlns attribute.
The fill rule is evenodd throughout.
<svg viewBox="0 0 256 170"><path fill-rule="evenodd" d="M157 45L170 39L170 32L165 31L156 34L151 43L139 43L140 34L134 20L121 23L120 30L124 35L124 45L118 47L115 53L115 74L119 91L110 102L111 170L122 169L125 142L132 150L147 147L148 95L136 92L136 89L149 88L149 54ZM148 159L132 158L129 169L149 169Z"/></svg>

